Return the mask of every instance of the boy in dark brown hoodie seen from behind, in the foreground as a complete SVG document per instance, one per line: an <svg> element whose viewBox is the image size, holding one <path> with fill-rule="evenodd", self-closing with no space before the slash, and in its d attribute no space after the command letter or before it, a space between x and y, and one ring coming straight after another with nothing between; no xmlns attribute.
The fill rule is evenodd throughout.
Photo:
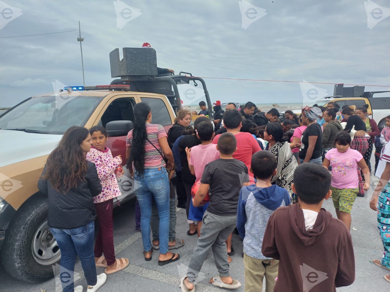
<svg viewBox="0 0 390 292"><path fill-rule="evenodd" d="M332 195L330 183L321 165L299 165L292 185L298 204L280 207L269 218L261 251L279 260L274 292L336 292L355 281L351 235L321 208Z"/></svg>

